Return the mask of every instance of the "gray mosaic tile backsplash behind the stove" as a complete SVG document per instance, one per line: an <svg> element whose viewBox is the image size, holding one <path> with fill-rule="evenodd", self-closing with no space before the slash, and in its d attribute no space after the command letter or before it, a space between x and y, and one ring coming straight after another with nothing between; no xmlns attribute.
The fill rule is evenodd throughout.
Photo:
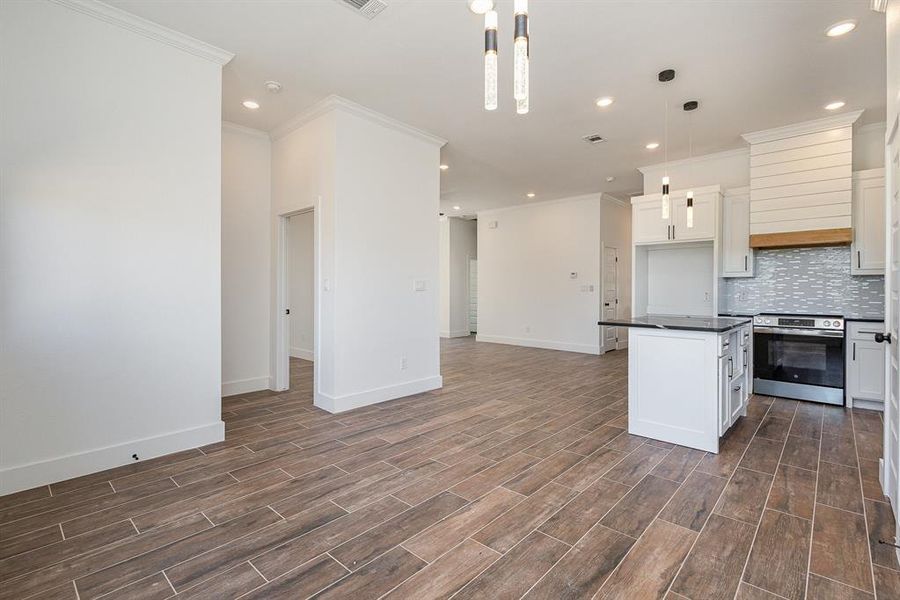
<svg viewBox="0 0 900 600"><path fill-rule="evenodd" d="M756 277L725 280L724 311L884 313L884 277L850 275L849 246L757 250L754 260Z"/></svg>

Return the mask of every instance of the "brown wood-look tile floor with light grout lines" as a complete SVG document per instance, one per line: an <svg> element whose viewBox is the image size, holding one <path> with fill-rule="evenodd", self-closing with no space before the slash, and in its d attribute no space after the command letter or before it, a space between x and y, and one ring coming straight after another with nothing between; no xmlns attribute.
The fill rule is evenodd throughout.
<svg viewBox="0 0 900 600"><path fill-rule="evenodd" d="M0 498L0 600L900 598L878 413L757 397L718 455L630 436L626 355L442 343L443 390Z"/></svg>

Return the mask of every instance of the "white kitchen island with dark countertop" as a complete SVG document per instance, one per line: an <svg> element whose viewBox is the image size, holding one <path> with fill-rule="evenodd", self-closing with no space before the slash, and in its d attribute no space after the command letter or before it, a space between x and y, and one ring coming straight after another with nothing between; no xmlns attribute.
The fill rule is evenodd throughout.
<svg viewBox="0 0 900 600"><path fill-rule="evenodd" d="M719 451L747 414L751 320L643 316L599 322L628 328L628 432Z"/></svg>

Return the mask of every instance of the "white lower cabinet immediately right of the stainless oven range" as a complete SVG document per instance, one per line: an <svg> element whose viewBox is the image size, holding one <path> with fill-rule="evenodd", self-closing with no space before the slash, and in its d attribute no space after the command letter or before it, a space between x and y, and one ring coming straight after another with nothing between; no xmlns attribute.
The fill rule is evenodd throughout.
<svg viewBox="0 0 900 600"><path fill-rule="evenodd" d="M884 410L884 323L847 322L847 406Z"/></svg>

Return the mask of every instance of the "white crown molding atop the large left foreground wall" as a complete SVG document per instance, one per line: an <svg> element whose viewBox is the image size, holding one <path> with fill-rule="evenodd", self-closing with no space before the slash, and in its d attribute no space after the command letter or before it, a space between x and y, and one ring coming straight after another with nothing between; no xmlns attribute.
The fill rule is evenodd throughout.
<svg viewBox="0 0 900 600"><path fill-rule="evenodd" d="M142 35L151 40L156 40L157 42L162 42L173 48L178 48L179 50L193 54L194 56L205 58L218 65L224 66L228 64L228 61L234 58L234 54L227 50L222 50L212 44L207 44L206 42L192 38L191 36L175 31L174 29L163 27L158 23L148 21L147 19L120 10L109 4L98 2L97 0L51 1L97 20L116 25L122 29L131 31L132 33L137 33L138 35Z"/></svg>

